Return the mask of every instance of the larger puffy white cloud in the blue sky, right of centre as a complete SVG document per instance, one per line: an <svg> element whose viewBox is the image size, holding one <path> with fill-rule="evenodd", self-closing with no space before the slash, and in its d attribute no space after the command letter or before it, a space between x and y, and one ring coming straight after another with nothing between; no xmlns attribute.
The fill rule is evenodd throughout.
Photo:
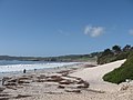
<svg viewBox="0 0 133 100"><path fill-rule="evenodd" d="M103 27L92 27L92 26L86 26L84 29L84 34L89 34L90 37L99 37L104 33L104 28Z"/></svg>

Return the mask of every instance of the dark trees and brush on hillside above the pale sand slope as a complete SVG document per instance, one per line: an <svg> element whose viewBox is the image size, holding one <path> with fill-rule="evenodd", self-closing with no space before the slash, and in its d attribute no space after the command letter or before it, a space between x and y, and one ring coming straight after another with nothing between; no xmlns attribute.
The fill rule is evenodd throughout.
<svg viewBox="0 0 133 100"><path fill-rule="evenodd" d="M124 48L120 46L113 46L111 49L105 49L101 54L98 57L98 63L109 63L116 60L126 59L130 52L133 51L133 47L126 44Z"/></svg>

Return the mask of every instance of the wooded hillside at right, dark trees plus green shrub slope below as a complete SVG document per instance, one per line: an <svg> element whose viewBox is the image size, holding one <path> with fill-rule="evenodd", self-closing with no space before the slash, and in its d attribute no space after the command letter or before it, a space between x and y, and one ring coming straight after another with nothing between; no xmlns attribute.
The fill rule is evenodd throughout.
<svg viewBox="0 0 133 100"><path fill-rule="evenodd" d="M133 80L133 47L129 44L124 48L113 46L112 49L105 49L101 56L98 57L98 63L104 64L123 59L126 59L126 61L120 68L104 74L104 81L121 83L126 79Z"/></svg>

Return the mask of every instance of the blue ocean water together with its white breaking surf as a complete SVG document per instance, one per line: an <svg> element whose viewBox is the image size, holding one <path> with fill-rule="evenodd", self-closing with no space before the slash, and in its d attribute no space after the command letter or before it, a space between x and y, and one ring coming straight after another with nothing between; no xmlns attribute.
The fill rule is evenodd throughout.
<svg viewBox="0 0 133 100"><path fill-rule="evenodd" d="M79 62L47 62L47 61L18 61L18 60L0 60L0 72L14 72L34 69L58 68L72 66Z"/></svg>

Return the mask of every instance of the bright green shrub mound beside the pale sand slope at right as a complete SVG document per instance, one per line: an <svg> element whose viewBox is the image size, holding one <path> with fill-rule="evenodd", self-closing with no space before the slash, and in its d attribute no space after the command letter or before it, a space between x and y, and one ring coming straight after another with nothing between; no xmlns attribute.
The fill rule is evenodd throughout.
<svg viewBox="0 0 133 100"><path fill-rule="evenodd" d="M133 80L133 51L130 52L127 60L122 67L106 73L103 77L104 81L113 82L113 83L121 83L124 82L125 79Z"/></svg>

